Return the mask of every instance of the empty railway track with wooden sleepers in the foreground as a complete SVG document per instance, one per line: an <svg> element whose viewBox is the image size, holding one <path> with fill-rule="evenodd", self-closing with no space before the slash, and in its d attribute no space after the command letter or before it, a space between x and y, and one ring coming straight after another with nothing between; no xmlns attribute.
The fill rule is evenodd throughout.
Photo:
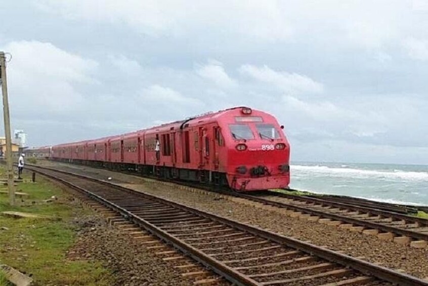
<svg viewBox="0 0 428 286"><path fill-rule="evenodd" d="M154 195L64 171L27 169L97 200L238 285L428 285L392 269Z"/></svg>

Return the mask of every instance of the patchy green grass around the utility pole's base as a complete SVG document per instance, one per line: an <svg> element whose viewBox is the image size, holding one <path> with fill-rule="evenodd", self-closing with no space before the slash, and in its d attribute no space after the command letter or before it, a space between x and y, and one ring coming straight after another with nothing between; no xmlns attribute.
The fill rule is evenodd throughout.
<svg viewBox="0 0 428 286"><path fill-rule="evenodd" d="M0 174L3 173L0 167ZM29 178L24 174L24 178ZM3 188L2 190L6 190ZM76 235L72 223L74 217L84 214L80 206L68 202L68 196L57 185L37 177L36 183L19 183L18 191L29 194L25 203L30 206L11 207L8 195L0 194L0 211L20 211L60 217L61 221L14 219L0 216L0 263L8 264L21 272L31 273L36 285L108 285L112 275L100 262L85 260L70 261L67 250L73 245ZM35 203L52 196L54 202ZM17 200L20 198L17 197ZM2 281L0 274L0 281ZM2 285L2 282L0 282Z"/></svg>

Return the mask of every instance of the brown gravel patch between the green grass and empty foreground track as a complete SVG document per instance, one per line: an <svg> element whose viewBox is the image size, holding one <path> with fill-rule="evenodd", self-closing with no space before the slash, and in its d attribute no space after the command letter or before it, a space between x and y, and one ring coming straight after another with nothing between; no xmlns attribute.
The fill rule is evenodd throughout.
<svg viewBox="0 0 428 286"><path fill-rule="evenodd" d="M171 265L139 245L130 235L106 224L102 217L78 218L80 226L69 259L102 261L112 269L117 285L189 285Z"/></svg>

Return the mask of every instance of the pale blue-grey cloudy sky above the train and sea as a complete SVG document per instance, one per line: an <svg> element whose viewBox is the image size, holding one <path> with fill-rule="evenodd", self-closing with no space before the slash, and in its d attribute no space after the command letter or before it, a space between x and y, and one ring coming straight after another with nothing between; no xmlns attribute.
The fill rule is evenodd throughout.
<svg viewBox="0 0 428 286"><path fill-rule="evenodd" d="M31 146L245 105L293 161L428 164L428 1L2 0L0 19Z"/></svg>

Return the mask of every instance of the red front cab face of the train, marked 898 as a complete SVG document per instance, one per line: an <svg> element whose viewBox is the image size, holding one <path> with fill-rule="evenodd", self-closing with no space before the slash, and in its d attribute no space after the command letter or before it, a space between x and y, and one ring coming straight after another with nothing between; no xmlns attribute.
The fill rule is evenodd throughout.
<svg viewBox="0 0 428 286"><path fill-rule="evenodd" d="M238 191L285 188L290 182L290 145L274 116L248 107L219 118L227 146L226 177Z"/></svg>

